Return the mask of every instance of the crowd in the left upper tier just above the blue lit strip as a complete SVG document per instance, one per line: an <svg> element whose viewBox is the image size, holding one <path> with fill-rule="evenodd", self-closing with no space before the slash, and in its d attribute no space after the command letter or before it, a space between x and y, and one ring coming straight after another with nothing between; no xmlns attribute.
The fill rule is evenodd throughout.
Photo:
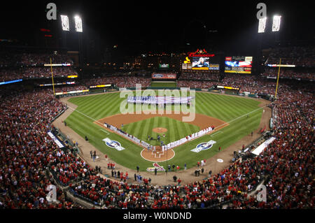
<svg viewBox="0 0 315 223"><path fill-rule="evenodd" d="M52 67L54 77L66 77L78 75L78 72L71 66ZM25 78L51 78L50 67L27 67L20 69L1 69L0 81L17 80Z"/></svg>

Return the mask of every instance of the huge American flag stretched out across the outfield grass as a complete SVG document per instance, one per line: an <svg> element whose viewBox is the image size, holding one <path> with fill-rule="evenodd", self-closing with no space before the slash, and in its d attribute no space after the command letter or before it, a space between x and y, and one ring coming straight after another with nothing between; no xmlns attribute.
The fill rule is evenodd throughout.
<svg viewBox="0 0 315 223"><path fill-rule="evenodd" d="M128 103L155 103L155 104L168 104L168 103L190 103L193 99L192 96L128 96Z"/></svg>

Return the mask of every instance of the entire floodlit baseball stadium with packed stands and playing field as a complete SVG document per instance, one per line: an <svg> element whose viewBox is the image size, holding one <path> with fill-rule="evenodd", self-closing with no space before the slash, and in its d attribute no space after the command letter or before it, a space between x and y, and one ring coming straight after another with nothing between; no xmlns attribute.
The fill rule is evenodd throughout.
<svg viewBox="0 0 315 223"><path fill-rule="evenodd" d="M194 15L154 48L89 3L29 6L35 37L0 36L0 209L313 209L314 34L269 6L255 40Z"/></svg>

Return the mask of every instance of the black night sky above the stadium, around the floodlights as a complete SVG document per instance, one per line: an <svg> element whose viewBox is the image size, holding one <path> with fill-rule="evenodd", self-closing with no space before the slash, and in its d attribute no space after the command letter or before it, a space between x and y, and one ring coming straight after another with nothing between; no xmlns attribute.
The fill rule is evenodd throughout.
<svg viewBox="0 0 315 223"><path fill-rule="evenodd" d="M57 5L55 21L45 17L49 2ZM70 20L78 14L88 39L84 44L102 50L118 45L127 55L196 48L244 54L257 49L258 2L267 4L269 23L275 13L282 15L281 41L314 40L314 10L307 1L11 1L1 6L0 38L36 45L34 33L41 28L51 29L59 38L60 13ZM262 34L264 46L274 38L271 24L267 29ZM68 42L69 49L75 48L71 37Z"/></svg>

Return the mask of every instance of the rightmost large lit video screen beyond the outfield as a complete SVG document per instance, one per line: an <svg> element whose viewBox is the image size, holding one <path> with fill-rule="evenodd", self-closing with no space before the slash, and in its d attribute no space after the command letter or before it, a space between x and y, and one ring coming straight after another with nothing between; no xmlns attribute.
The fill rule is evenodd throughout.
<svg viewBox="0 0 315 223"><path fill-rule="evenodd" d="M225 57L225 73L251 73L253 57Z"/></svg>

